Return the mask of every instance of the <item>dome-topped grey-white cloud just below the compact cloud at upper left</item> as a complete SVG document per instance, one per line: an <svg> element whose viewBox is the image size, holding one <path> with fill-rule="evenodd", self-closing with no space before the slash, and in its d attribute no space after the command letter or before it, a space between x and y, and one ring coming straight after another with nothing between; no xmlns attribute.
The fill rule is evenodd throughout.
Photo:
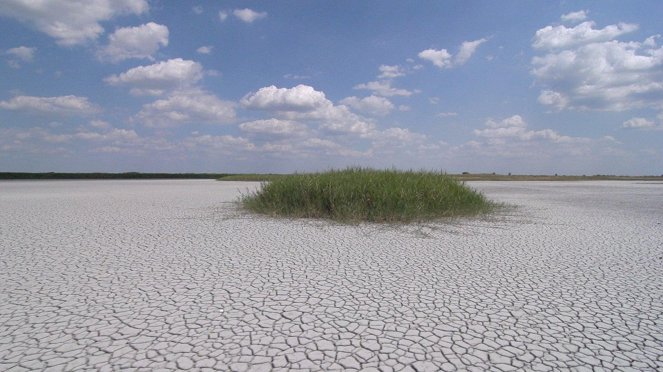
<svg viewBox="0 0 663 372"><path fill-rule="evenodd" d="M202 90L189 90L143 105L133 121L165 128L188 123L226 124L234 119L234 104Z"/></svg>

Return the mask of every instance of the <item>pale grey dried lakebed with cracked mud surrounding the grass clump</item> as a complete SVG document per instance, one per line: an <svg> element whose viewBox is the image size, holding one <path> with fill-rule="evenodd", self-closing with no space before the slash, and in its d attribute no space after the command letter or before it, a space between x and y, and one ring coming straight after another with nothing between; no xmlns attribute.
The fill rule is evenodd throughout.
<svg viewBox="0 0 663 372"><path fill-rule="evenodd" d="M661 370L663 184L471 182L447 223L215 181L0 183L0 370Z"/></svg>

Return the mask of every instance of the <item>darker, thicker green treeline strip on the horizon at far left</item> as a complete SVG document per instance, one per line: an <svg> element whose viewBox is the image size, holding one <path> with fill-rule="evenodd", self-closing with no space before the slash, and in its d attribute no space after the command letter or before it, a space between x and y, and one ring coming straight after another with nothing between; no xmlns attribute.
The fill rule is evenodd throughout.
<svg viewBox="0 0 663 372"><path fill-rule="evenodd" d="M3 180L147 180L147 179L217 179L228 173L24 173L0 172Z"/></svg>

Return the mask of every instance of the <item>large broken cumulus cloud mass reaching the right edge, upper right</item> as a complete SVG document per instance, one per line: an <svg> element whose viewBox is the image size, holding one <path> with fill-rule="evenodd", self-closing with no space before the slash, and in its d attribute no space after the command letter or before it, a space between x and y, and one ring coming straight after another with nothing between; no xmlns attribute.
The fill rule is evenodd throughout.
<svg viewBox="0 0 663 372"><path fill-rule="evenodd" d="M594 22L546 26L532 46L531 73L542 86L541 104L562 109L623 111L663 107L663 48L657 38L622 42L614 38L638 28Z"/></svg>

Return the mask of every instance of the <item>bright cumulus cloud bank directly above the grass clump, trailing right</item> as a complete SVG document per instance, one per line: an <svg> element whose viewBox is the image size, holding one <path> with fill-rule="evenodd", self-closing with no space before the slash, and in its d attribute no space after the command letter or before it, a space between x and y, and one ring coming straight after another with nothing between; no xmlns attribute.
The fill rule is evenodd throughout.
<svg viewBox="0 0 663 372"><path fill-rule="evenodd" d="M351 111L385 114L393 110L394 105L380 96L347 97L335 105L324 92L307 85L269 86L247 94L241 104L269 115L239 128L257 141L266 141L259 142L254 151L270 156L371 157L393 154L389 149L412 144L419 148L427 140L406 128L381 130L371 119ZM290 140L294 136L297 141Z"/></svg>

